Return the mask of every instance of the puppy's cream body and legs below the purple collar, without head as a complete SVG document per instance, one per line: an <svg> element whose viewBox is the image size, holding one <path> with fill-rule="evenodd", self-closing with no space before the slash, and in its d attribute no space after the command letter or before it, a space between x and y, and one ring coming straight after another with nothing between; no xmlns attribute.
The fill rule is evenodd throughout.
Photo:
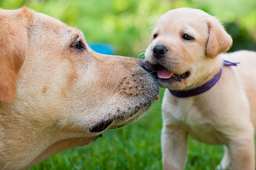
<svg viewBox="0 0 256 170"><path fill-rule="evenodd" d="M241 63L237 67L224 66L221 78L207 92L178 98L166 90L162 105L165 169L183 169L187 135L200 142L223 144L232 149L232 169L254 169L256 99L253 94L256 91L253 84L256 78L253 70L256 70L247 68L253 68L256 55L254 52L241 51L222 56ZM225 154L228 153L226 151ZM231 156L228 154L223 158L221 167L226 168Z"/></svg>

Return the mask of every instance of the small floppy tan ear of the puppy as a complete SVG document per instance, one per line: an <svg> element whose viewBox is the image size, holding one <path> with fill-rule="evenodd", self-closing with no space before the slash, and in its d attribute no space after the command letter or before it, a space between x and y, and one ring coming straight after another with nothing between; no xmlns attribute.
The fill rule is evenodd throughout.
<svg viewBox="0 0 256 170"><path fill-rule="evenodd" d="M207 21L209 39L206 47L208 57L214 58L222 52L226 52L232 46L232 38L225 31L221 23L214 17Z"/></svg>

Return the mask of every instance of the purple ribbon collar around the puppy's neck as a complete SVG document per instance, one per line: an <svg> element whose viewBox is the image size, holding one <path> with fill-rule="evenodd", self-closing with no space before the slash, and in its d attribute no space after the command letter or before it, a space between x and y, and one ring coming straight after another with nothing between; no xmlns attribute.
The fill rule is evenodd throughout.
<svg viewBox="0 0 256 170"><path fill-rule="evenodd" d="M227 66L237 66L237 64L239 63L232 63L230 61L227 60L223 60L223 64L227 65ZM190 90L171 90L169 89L170 93L176 97L191 97L191 96L195 96L201 93L206 92L207 90L209 90L210 88L212 88L216 82L218 82L218 80L220 79L221 76L221 69L220 71L212 77L212 79L210 79L208 82L204 83L203 85L197 87L197 88L193 88Z"/></svg>

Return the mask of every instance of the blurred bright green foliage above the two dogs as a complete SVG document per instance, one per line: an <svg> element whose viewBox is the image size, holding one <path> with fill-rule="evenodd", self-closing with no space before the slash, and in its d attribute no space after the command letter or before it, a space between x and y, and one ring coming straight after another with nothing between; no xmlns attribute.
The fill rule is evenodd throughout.
<svg viewBox="0 0 256 170"><path fill-rule="evenodd" d="M143 52L157 19L180 7L216 16L234 39L232 50L256 48L255 0L0 0L4 9L23 5L78 27L88 42L113 44L117 55Z"/></svg>

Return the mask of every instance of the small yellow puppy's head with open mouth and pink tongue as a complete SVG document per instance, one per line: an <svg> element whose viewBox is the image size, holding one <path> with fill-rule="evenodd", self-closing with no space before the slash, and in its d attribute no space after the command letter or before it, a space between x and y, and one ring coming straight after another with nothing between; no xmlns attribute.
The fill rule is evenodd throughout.
<svg viewBox="0 0 256 170"><path fill-rule="evenodd" d="M145 57L156 65L160 86L189 89L215 69L217 56L231 45L230 35L215 17L180 8L157 21Z"/></svg>

